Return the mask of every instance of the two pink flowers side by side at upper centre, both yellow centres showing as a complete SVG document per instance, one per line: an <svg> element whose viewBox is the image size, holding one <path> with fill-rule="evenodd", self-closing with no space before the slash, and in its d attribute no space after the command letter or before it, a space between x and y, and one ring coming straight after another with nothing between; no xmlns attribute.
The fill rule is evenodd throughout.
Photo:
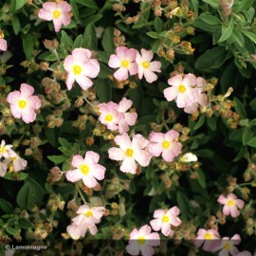
<svg viewBox="0 0 256 256"><path fill-rule="evenodd" d="M119 46L116 54L110 56L108 65L112 68L119 68L114 77L119 81L127 80L130 76L138 75L139 79L144 76L147 82L155 82L155 72L161 72L160 62L151 62L154 58L151 50L141 49L141 54L134 48Z"/></svg>

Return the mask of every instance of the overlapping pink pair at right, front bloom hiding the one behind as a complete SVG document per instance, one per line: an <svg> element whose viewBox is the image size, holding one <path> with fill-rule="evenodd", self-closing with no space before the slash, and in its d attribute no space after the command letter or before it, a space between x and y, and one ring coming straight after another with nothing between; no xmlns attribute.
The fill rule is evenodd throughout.
<svg viewBox="0 0 256 256"><path fill-rule="evenodd" d="M172 86L164 89L164 97L167 101L176 101L177 107L184 108L186 113L193 114L199 105L208 105L204 93L206 81L203 78L196 78L191 73L184 77L179 74L169 79L168 83Z"/></svg>

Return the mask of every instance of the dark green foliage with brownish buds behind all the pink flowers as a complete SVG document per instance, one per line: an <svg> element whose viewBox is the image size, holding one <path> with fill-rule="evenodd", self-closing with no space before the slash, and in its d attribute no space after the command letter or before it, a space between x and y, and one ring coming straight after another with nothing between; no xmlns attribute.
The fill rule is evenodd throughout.
<svg viewBox="0 0 256 256"><path fill-rule="evenodd" d="M88 233L81 240L83 252L98 255L102 248L109 253L109 247L113 247L113 255L121 255L118 253L127 244L132 229L149 223L154 210L176 205L183 221L176 231L179 235L176 239L184 238L186 231L189 238L185 237L178 246L174 246L172 239L163 242L157 251L159 255L187 255L192 250L190 239L196 236L198 229L209 229L210 216L216 216L222 209L217 203L218 196L228 192L236 193L246 206L239 217L228 216L224 225L218 224L219 232L222 237L239 233L242 237L240 250L251 251L256 232L256 2L237 0L230 10L224 5L225 1L172 1L180 9L171 17L170 9L166 10L168 5L164 4L166 12L163 10L161 16L155 16L151 8L154 1L126 1L125 9L118 11L113 10L118 1L70 0L72 22L59 33L54 32L51 22L39 22L35 7L26 2L6 1L0 10L1 29L12 53L8 63L1 64L0 97L5 99L10 90L27 82L33 85L36 94L44 97L46 104L32 124L25 125L22 120L10 125L3 122L5 129L1 130L1 138L13 144L28 164L26 171L0 178L0 242L5 244L11 240L12 244L17 244L22 239L21 244L31 245L47 241L50 248L46 255L56 255L54 253L60 250L68 253L71 248L79 254L80 242L65 240L62 236L70 224L72 212L67 203L74 198L76 186L64 176L58 182L49 182L47 177L52 167L66 171L73 155L92 150L101 155L100 163L107 171L101 191L82 194L86 200L104 205L110 213L98 225L99 232L94 238L101 239L100 242L88 240L92 238ZM135 16L135 23L127 22L128 17ZM100 36L97 35L99 27L102 28ZM114 72L108 67L108 60L117 43L115 38L113 41L114 28L125 37L128 47L153 50L155 60L162 64L156 82L150 84L132 77L121 88L111 78ZM174 37L178 37L180 43L174 42ZM101 72L90 93L96 94L100 102L119 102L124 95L132 100L138 115L133 127L136 134L148 137L157 127L167 132L163 126L166 120L170 129L180 123L182 127L177 130L184 136L182 153L197 155L196 166L189 164L182 170L178 160L167 166L157 158L148 167L141 168L138 175L121 173L119 164L108 158L107 150L113 145L107 138L110 133L98 134L100 123L91 121L98 118L86 102L82 107L75 105L82 96L78 84L66 91L64 81L59 79L61 90L65 92L63 101L47 98L42 81L46 77L58 79L58 72L44 71L40 63L48 62L50 68L56 69L59 60L52 49L44 46L46 39L56 39L60 44L56 49L61 62L59 73L64 71L64 58L72 49L85 47L93 51L101 64ZM210 91L214 100L211 107L206 112L201 111L198 117L184 113L163 97L171 73L180 68L185 74L204 77L214 87ZM135 83L136 88L131 85ZM221 99L229 87L233 92L229 102L225 98L226 102ZM225 102L232 106L232 114L239 115L238 119L227 117L225 108L224 113L217 110ZM0 106L1 119L5 107ZM59 127L51 126L47 119L56 110L61 110L64 121ZM81 116L86 118L80 126ZM186 127L189 135L184 130ZM88 137L94 137L93 145L86 143ZM35 138L39 139L37 144L31 145ZM232 183L231 177L236 181ZM172 185L167 186L167 181ZM78 199L77 204L81 205L82 201ZM44 232L46 237L42 240L40 235ZM118 241L112 241L113 238ZM167 252L165 243L168 243ZM22 255L22 252L16 253ZM204 252L200 251L200 255Z"/></svg>

